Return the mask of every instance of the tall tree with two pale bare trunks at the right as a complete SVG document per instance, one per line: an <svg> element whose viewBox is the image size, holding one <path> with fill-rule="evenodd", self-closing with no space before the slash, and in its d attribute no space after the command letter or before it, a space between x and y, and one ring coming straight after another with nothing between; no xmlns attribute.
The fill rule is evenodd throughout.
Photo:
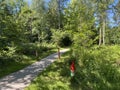
<svg viewBox="0 0 120 90"><path fill-rule="evenodd" d="M105 32L106 32L106 20L107 20L107 10L109 10L109 5L113 3L113 0L107 1L107 0L94 0L94 8L95 8L95 14L96 18L98 18L98 26L99 26L99 45L103 44L105 45Z"/></svg>

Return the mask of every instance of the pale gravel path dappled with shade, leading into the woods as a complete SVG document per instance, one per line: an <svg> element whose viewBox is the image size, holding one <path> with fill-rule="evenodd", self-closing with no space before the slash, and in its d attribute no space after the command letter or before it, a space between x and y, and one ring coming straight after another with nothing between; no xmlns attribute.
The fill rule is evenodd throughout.
<svg viewBox="0 0 120 90"><path fill-rule="evenodd" d="M63 54L66 51L68 51L68 49L61 50L60 53ZM18 72L0 79L0 90L23 90L42 70L57 58L57 53L51 54Z"/></svg>

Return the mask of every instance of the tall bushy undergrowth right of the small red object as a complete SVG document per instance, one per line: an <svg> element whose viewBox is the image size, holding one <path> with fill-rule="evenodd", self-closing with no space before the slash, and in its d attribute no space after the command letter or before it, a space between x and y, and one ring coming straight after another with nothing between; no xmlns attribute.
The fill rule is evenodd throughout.
<svg viewBox="0 0 120 90"><path fill-rule="evenodd" d="M119 49L119 46L89 49L74 47L72 55L76 57L78 64L76 64L73 83L80 85L82 90L118 90L120 88L120 68L113 61L119 58Z"/></svg>

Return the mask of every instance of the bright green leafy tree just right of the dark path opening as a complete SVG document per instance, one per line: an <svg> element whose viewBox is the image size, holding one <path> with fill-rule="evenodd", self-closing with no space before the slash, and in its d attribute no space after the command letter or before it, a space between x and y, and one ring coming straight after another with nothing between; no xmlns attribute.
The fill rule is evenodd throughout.
<svg viewBox="0 0 120 90"><path fill-rule="evenodd" d="M66 9L66 26L73 37L74 44L77 46L90 46L96 37L92 37L95 33L94 11L90 10L92 5L89 1L72 0Z"/></svg>

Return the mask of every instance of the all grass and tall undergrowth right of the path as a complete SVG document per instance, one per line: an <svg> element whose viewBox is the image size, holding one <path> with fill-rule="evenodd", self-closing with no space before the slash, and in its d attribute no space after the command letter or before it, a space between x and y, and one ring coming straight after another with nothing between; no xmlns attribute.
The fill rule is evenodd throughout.
<svg viewBox="0 0 120 90"><path fill-rule="evenodd" d="M71 52L55 61L35 78L25 90L119 90L119 46L78 48L76 71L70 77Z"/></svg>

